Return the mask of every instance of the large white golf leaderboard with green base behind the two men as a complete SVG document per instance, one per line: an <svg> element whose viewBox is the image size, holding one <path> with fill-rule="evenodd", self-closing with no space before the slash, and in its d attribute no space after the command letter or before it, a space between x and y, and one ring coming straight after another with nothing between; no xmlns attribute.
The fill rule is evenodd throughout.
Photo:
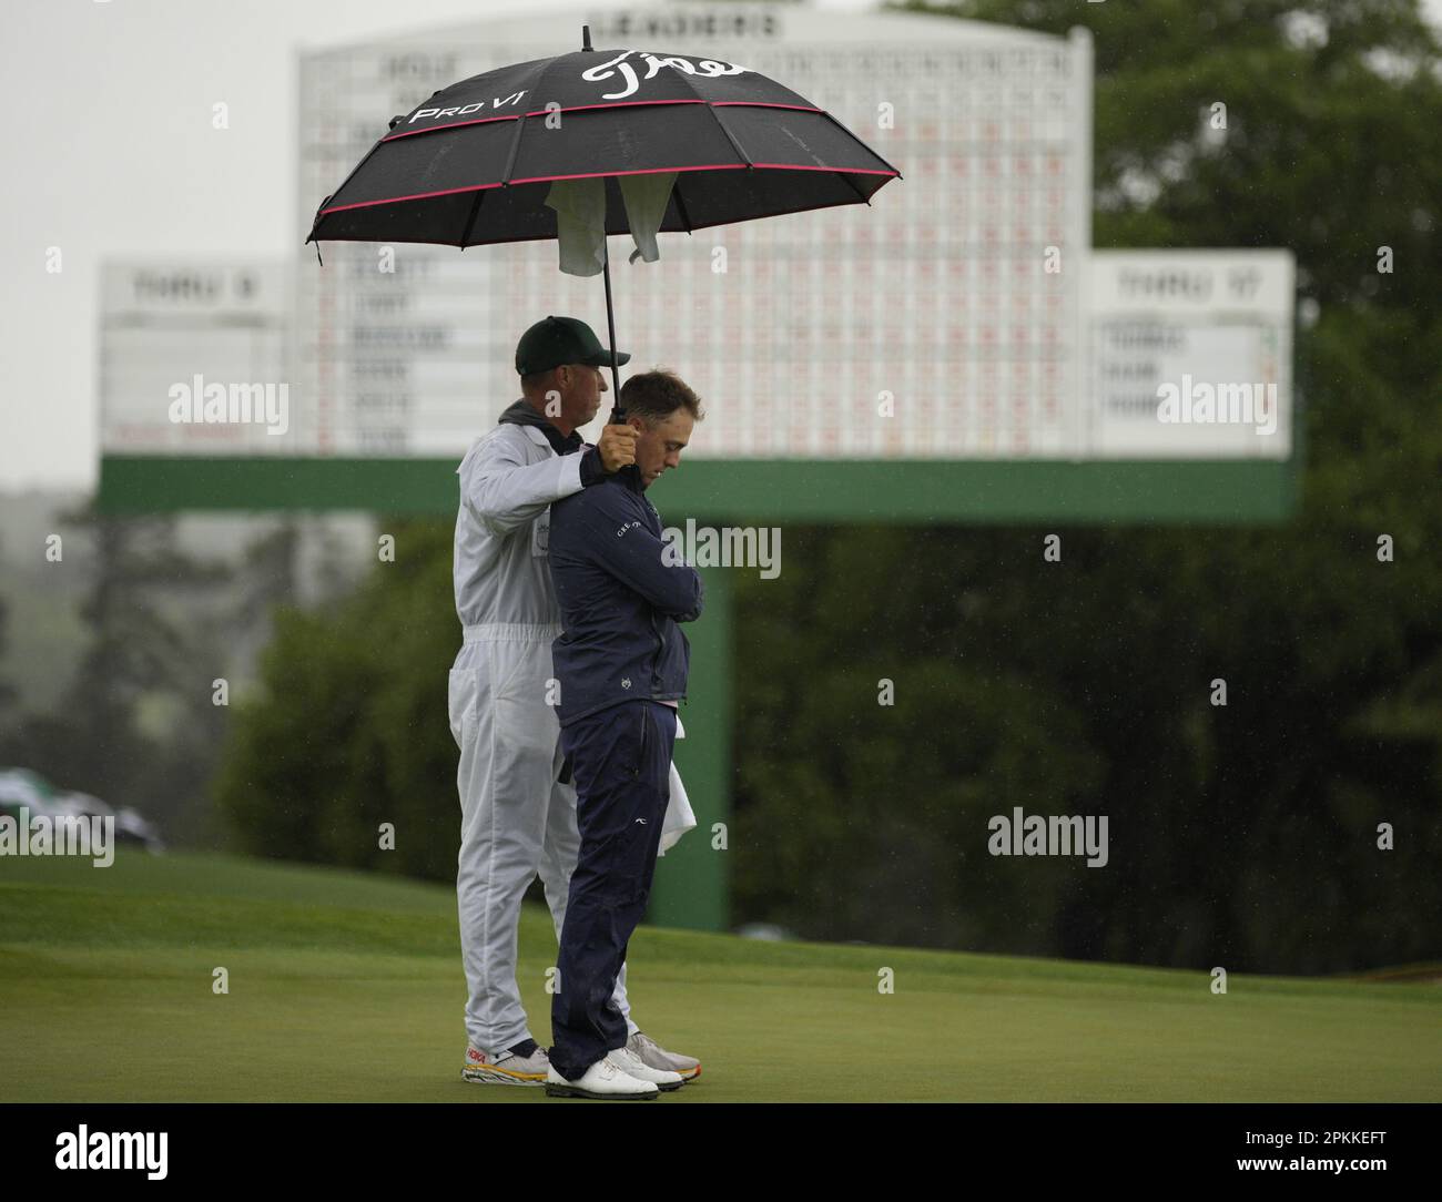
<svg viewBox="0 0 1442 1202"><path fill-rule="evenodd" d="M891 507L907 520L937 507L991 520L1159 509L1272 520L1291 509L1288 254L1146 251L1151 281L1122 303L1113 267L1122 252L1092 248L1093 48L1080 27L1054 36L903 13L662 4L506 14L307 49L298 225L310 228L317 202L394 133L394 117L424 111L456 79L555 53L557 30L583 22L598 48L704 39L718 61L787 81L906 167L864 219L822 209L699 229L666 239L656 262L614 265L617 329L637 344L665 333L666 365L728 396L695 473L676 481L688 500L714 504L711 461L740 460L746 491L783 499L793 491L784 464L812 464L819 494L796 507L816 517L851 516L858 489L872 491L870 468L888 464L921 468L884 473ZM597 81L597 94L606 86L624 81ZM177 274L182 297L195 291L183 262L151 267ZM457 252L322 236L288 264L193 264L202 278L206 270L284 274L267 317L286 330L294 422L286 438L252 431L241 447L234 432L167 422L117 373L102 401L110 507L150 504L162 481L170 496L215 503L215 466L186 461L196 457L221 458L226 478L255 481L275 504L307 507L356 503L336 487L336 468L359 460L372 481L388 481L384 494L428 509L440 497L417 493L408 466L464 450L472 398L508 388L515 316L596 303L588 281L555 271L554 248L525 242ZM1265 310L1220 287L1206 306L1184 303L1188 277L1239 270L1265 277ZM1128 278L1136 274L1133 262ZM225 320L238 323L235 343L251 347L254 316ZM1178 370L1270 389L1278 437L1159 424L1122 395ZM782 421L777 396L787 398ZM270 486L257 457L287 461L284 489ZM1182 463L1152 470L1167 461ZM949 487L953 463L983 487ZM373 484L363 490L373 494ZM872 496L867 512L884 516L887 506L878 510Z"/></svg>

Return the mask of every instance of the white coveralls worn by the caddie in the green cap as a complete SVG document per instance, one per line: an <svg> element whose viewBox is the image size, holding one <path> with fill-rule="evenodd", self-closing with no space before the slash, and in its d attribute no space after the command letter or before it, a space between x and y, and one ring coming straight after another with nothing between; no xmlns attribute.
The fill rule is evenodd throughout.
<svg viewBox="0 0 1442 1202"><path fill-rule="evenodd" d="M456 895L473 1046L499 1054L532 1038L516 986L521 899L539 873L555 924L565 920L581 839L575 787L561 784L551 641L561 611L551 584L551 502L581 489L583 453L558 455L536 425L502 424L456 470L453 574L463 644L450 670L450 728L460 748ZM672 768L663 847L695 826ZM636 1032L622 966L613 994Z"/></svg>

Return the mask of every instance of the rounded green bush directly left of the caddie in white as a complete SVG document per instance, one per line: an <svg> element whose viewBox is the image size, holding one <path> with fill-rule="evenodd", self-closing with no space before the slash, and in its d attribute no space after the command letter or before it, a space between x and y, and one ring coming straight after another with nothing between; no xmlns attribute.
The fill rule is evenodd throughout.
<svg viewBox="0 0 1442 1202"><path fill-rule="evenodd" d="M283 608L262 690L235 705L216 800L255 855L456 875L446 680L460 628L451 526L391 522L395 562L336 607ZM382 850L381 823L395 826Z"/></svg>

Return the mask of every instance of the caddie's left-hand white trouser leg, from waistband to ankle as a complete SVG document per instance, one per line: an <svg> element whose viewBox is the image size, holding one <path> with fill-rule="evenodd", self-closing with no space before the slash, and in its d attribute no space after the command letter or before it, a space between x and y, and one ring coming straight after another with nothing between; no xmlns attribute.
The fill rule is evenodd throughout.
<svg viewBox="0 0 1442 1202"><path fill-rule="evenodd" d="M532 1038L516 984L516 925L539 866L554 780L555 715L539 693L532 698L538 677L549 675L549 644L523 640L469 643L450 675L450 724L460 747L456 898L466 1033L489 1052Z"/></svg>

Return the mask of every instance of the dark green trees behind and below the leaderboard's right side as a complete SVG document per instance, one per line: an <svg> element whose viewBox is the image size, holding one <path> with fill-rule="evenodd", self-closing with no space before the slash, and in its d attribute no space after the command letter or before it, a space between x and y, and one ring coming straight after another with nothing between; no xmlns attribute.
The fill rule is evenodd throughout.
<svg viewBox="0 0 1442 1202"><path fill-rule="evenodd" d="M1045 529L789 529L782 579L738 578L738 917L1268 970L1438 954L1442 88L1363 63L1435 63L1430 32L1412 3L950 12L1094 29L1097 245L1296 252L1319 306L1302 507L1272 530L1058 526L1061 564ZM1288 12L1328 45L1291 46ZM1213 101L1229 137L1204 154ZM1014 806L1109 814L1112 862L991 858Z"/></svg>

